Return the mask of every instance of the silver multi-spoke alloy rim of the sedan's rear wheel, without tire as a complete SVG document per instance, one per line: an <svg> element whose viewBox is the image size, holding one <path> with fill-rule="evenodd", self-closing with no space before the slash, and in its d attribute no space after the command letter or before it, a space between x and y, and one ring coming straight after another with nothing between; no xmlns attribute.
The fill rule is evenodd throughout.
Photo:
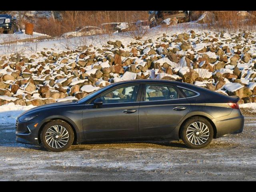
<svg viewBox="0 0 256 192"><path fill-rule="evenodd" d="M209 128L203 122L193 122L186 130L188 141L194 145L204 144L209 136Z"/></svg>

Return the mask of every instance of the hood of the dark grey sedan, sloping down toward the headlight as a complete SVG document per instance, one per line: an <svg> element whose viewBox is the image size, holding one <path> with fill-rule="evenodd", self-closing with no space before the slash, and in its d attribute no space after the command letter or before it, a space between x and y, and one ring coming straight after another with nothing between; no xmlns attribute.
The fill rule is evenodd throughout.
<svg viewBox="0 0 256 192"><path fill-rule="evenodd" d="M50 103L50 104L41 105L41 106L34 107L34 108L30 109L30 110L25 111L24 113L20 114L18 116L18 118L20 116L22 116L22 115L29 115L29 114L32 114L32 113L40 113L40 111L44 110L44 109L53 108L53 107L68 106L70 104L75 104L75 102L65 101L65 102L56 102L56 103Z"/></svg>

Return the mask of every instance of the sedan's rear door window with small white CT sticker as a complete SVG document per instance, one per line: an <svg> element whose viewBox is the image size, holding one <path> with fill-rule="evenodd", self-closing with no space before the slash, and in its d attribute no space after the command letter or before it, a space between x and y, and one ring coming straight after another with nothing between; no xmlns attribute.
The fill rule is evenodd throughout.
<svg viewBox="0 0 256 192"><path fill-rule="evenodd" d="M147 85L145 101L173 100L179 95L173 86Z"/></svg>

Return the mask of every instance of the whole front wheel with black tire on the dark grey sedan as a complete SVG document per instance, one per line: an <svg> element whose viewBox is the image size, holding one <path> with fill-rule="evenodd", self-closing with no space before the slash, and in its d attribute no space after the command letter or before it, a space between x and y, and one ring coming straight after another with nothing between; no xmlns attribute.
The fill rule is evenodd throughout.
<svg viewBox="0 0 256 192"><path fill-rule="evenodd" d="M49 129L56 130L54 127L59 130L58 134L49 130ZM63 130L63 128L65 130ZM65 134L65 136L61 137L60 132L62 132L62 134ZM59 138L56 138L56 136L58 136ZM74 141L74 132L68 123L62 120L53 120L43 127L40 137L41 137L42 144L44 148L46 148L46 150L51 152L62 152L68 149L72 145ZM50 138L50 139L48 140L47 138Z"/></svg>

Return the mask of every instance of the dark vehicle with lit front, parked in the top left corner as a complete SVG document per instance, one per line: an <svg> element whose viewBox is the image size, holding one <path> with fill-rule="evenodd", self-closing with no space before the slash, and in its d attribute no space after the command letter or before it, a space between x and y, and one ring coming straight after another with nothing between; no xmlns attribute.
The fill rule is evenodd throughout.
<svg viewBox="0 0 256 192"><path fill-rule="evenodd" d="M14 33L18 31L16 18L9 14L0 14L0 32Z"/></svg>

